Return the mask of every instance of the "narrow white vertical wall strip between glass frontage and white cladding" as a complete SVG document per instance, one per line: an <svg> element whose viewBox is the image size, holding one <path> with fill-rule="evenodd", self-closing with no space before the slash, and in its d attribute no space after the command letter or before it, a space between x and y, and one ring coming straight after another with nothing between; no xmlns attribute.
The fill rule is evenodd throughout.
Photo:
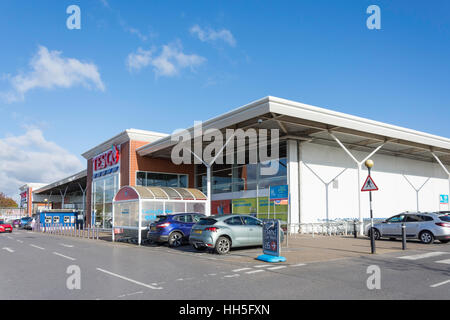
<svg viewBox="0 0 450 320"><path fill-rule="evenodd" d="M288 140L287 142L287 182L289 186L289 212L288 224L289 232L298 232L298 223L300 223L300 181L299 181L299 159L297 140Z"/></svg>

